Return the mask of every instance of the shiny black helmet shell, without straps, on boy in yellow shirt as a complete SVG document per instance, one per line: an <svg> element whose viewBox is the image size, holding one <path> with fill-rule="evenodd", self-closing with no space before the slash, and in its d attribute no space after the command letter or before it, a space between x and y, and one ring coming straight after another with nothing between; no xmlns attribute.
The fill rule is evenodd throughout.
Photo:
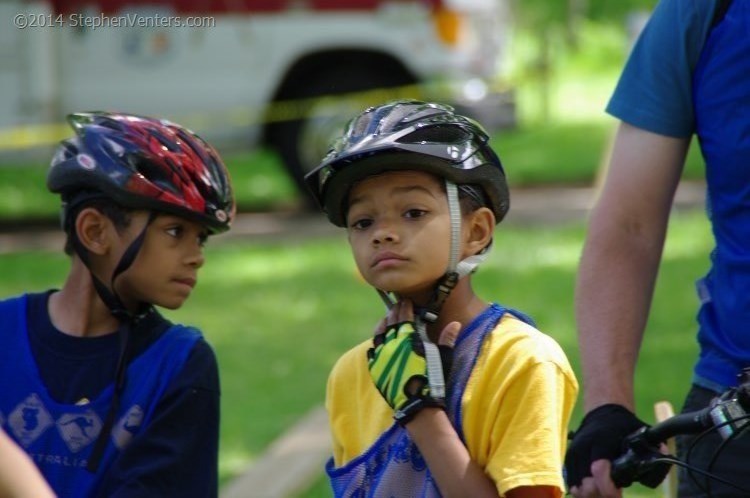
<svg viewBox="0 0 750 498"><path fill-rule="evenodd" d="M328 219L343 227L352 185L401 169L481 187L497 223L508 212L505 171L487 132L444 104L399 100L366 109L305 179Z"/></svg>

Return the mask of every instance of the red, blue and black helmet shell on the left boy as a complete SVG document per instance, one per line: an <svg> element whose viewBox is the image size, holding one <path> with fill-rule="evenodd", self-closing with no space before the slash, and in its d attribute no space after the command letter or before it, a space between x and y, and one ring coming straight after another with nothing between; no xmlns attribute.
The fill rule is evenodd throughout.
<svg viewBox="0 0 750 498"><path fill-rule="evenodd" d="M208 143L172 122L111 112L68 116L76 136L61 143L47 175L66 213L102 195L131 209L182 216L212 233L229 229L229 173Z"/></svg>

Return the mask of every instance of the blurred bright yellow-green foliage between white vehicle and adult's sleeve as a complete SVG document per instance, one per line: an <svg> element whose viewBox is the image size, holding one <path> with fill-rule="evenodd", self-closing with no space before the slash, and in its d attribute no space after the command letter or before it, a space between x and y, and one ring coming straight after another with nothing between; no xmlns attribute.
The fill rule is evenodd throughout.
<svg viewBox="0 0 750 498"><path fill-rule="evenodd" d="M623 67L635 14L656 0L515 0L501 81L525 124L603 119Z"/></svg>

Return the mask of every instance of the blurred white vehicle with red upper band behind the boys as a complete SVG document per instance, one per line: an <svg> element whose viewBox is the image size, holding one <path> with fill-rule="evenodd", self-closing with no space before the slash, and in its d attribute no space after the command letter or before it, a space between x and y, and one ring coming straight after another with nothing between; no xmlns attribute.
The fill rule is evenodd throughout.
<svg viewBox="0 0 750 498"><path fill-rule="evenodd" d="M220 149L275 147L299 185L334 128L386 99L512 124L493 87L505 2L4 0L0 136L82 110L167 117Z"/></svg>

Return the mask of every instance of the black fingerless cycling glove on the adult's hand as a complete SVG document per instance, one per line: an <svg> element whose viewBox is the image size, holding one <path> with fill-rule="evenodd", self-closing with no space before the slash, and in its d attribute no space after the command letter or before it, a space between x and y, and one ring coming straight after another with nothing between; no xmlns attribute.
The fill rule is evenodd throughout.
<svg viewBox="0 0 750 498"><path fill-rule="evenodd" d="M591 477L591 463L615 460L624 451L627 436L647 425L622 405L607 404L586 414L565 454L565 480L570 489Z"/></svg>

